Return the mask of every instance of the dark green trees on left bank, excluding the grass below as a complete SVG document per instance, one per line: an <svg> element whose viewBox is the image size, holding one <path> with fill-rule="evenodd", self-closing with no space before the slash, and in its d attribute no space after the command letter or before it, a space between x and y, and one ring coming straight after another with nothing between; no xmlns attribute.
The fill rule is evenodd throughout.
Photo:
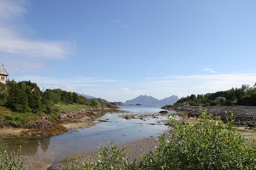
<svg viewBox="0 0 256 170"><path fill-rule="evenodd" d="M88 99L61 89L40 91L36 83L30 81L7 81L7 86L0 86L1 104L18 113L56 113L54 104L82 104L97 106L96 99Z"/></svg>

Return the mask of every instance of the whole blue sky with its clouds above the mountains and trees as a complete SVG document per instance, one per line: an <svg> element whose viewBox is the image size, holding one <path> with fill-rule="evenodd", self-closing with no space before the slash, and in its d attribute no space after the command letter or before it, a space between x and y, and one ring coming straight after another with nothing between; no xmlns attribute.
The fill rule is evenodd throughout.
<svg viewBox="0 0 256 170"><path fill-rule="evenodd" d="M16 82L109 102L253 86L255 9L255 0L0 0L0 62Z"/></svg>

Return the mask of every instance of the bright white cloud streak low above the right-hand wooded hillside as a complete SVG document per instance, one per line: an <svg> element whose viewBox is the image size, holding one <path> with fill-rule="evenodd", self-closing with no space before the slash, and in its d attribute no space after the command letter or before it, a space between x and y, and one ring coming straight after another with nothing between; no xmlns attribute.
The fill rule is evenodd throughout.
<svg viewBox="0 0 256 170"><path fill-rule="evenodd" d="M151 87L152 92L159 89L164 93L178 95L214 93L229 90L232 87L240 87L242 84L254 85L256 73L254 74L214 74L214 75L171 75L158 79L148 79L150 83L142 86Z"/></svg>

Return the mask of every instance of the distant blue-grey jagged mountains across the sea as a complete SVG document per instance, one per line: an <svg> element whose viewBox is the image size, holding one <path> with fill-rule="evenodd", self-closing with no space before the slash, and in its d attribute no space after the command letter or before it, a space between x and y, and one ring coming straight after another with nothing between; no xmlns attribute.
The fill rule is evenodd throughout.
<svg viewBox="0 0 256 170"><path fill-rule="evenodd" d="M164 99L156 99L152 96L140 95L135 99L127 100L124 104L143 104L143 105L169 105L177 102L179 98L176 95L172 95L170 97L166 97Z"/></svg>

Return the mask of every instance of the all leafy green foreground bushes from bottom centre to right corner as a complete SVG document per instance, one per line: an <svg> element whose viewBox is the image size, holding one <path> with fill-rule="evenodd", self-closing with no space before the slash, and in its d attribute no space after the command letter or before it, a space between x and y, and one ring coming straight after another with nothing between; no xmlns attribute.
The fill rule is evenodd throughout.
<svg viewBox="0 0 256 170"><path fill-rule="evenodd" d="M254 170L256 143L245 143L233 128L233 118L224 124L201 110L200 119L191 124L173 116L170 131L159 135L155 152L142 155L140 161L127 162L124 148L117 150L110 142L105 148L100 144L98 161L69 163L66 170Z"/></svg>

